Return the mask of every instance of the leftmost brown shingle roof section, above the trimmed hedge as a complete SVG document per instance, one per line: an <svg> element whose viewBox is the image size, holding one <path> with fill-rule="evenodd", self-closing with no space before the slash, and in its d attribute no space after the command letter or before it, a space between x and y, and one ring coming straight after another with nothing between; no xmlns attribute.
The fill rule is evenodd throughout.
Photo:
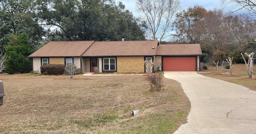
<svg viewBox="0 0 256 134"><path fill-rule="evenodd" d="M94 41L49 42L29 57L81 56Z"/></svg>

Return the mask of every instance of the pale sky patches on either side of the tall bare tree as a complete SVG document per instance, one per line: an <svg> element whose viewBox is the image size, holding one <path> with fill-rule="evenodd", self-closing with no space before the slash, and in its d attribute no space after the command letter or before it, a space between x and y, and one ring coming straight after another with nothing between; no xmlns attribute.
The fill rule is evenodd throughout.
<svg viewBox="0 0 256 134"><path fill-rule="evenodd" d="M135 12L135 0L116 0L116 2L123 2L126 9L137 16L138 14ZM213 8L220 8L221 3L219 0L180 0L183 9L187 9L188 7L193 7L194 5L203 6L207 10L211 10Z"/></svg>

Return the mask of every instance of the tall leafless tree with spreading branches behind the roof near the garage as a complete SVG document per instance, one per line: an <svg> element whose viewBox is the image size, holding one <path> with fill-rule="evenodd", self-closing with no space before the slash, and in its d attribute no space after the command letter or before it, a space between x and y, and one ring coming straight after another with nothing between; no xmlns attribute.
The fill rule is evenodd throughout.
<svg viewBox="0 0 256 134"><path fill-rule="evenodd" d="M179 0L136 0L136 11L148 23L151 40L161 42L170 35L175 14L181 9Z"/></svg>

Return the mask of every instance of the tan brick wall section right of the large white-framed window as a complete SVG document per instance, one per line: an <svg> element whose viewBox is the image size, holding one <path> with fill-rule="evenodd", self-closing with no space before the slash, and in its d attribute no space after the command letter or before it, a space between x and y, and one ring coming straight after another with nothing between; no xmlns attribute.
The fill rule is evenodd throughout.
<svg viewBox="0 0 256 134"><path fill-rule="evenodd" d="M144 72L144 57L117 57L117 72Z"/></svg>

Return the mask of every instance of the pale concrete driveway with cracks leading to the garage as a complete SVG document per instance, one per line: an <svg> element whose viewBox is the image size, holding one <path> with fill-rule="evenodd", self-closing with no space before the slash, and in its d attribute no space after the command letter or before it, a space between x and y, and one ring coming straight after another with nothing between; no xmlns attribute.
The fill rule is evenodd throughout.
<svg viewBox="0 0 256 134"><path fill-rule="evenodd" d="M188 123L174 134L256 134L255 91L197 72L164 77L180 82L191 102Z"/></svg>

